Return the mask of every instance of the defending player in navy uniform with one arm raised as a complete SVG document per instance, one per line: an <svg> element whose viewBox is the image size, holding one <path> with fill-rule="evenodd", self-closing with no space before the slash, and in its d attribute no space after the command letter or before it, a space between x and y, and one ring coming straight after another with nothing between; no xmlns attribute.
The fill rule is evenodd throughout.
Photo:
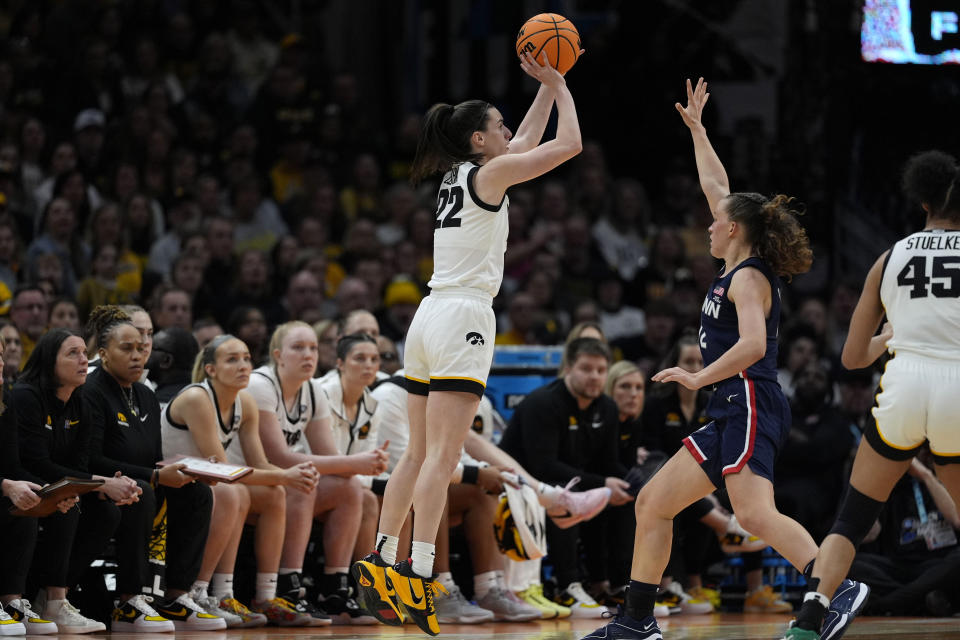
<svg viewBox="0 0 960 640"><path fill-rule="evenodd" d="M813 254L790 209L791 199L731 193L723 164L700 121L710 94L703 78L687 81L687 106L677 111L690 128L700 186L710 205L710 253L724 261L703 302L698 372L665 369L655 382L688 389L714 386L707 406L713 421L680 449L637 496L637 532L625 611L586 638L658 640L653 617L657 589L670 556L673 518L726 484L741 525L773 546L794 567L812 565L816 544L800 524L777 511L773 467L790 428L790 408L777 383L778 276L803 273ZM857 592L865 585L851 583ZM847 598L835 606L848 604ZM844 611L850 615L849 610ZM839 629L842 633L842 629Z"/></svg>

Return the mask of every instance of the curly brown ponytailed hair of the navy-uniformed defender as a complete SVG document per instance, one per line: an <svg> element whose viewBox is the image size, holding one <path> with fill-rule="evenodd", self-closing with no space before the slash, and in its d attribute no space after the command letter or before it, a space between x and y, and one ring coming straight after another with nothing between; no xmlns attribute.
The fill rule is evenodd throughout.
<svg viewBox="0 0 960 640"><path fill-rule="evenodd" d="M757 255L779 276L794 276L810 270L813 251L807 232L797 222L794 199L759 193L731 193L727 212L747 229L747 239Z"/></svg>

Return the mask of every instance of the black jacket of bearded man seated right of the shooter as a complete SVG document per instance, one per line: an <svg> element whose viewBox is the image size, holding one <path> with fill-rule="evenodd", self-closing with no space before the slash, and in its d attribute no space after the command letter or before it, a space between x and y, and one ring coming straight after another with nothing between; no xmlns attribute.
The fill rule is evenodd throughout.
<svg viewBox="0 0 960 640"><path fill-rule="evenodd" d="M619 438L613 400L602 395L581 410L560 378L523 399L500 447L544 482L565 484L580 476L580 488L594 489L608 477L626 475L617 455Z"/></svg>

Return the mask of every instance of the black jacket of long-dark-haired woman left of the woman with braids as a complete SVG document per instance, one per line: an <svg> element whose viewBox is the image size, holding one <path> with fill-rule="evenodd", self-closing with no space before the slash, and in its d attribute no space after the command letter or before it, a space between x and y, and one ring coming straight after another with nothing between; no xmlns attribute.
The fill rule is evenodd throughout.
<svg viewBox="0 0 960 640"><path fill-rule="evenodd" d="M10 395L24 470L43 482L64 476L90 478L91 429L80 390L74 390L64 403L51 390L18 382Z"/></svg>

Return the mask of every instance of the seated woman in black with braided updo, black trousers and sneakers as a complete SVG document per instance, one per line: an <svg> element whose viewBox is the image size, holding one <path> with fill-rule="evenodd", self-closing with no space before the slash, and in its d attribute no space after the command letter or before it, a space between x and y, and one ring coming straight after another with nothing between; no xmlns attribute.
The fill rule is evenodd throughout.
<svg viewBox="0 0 960 640"><path fill-rule="evenodd" d="M148 348L131 316L116 305L99 306L87 322L100 366L82 389L90 419L90 468L136 480L140 501L120 510L117 527L117 593L113 631L206 631L225 629L223 618L207 614L187 594L200 570L210 526L210 487L182 472L183 465L157 468L163 459L160 403L139 382ZM166 501L165 597L155 603L140 595L151 580L150 537L158 508Z"/></svg>

